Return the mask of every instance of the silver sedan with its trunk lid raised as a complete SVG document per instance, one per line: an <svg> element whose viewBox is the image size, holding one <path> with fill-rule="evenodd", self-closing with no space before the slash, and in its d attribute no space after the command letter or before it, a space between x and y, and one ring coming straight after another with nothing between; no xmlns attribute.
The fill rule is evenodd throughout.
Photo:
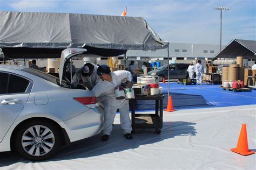
<svg viewBox="0 0 256 170"><path fill-rule="evenodd" d="M69 82L36 69L0 65L0 125L0 152L15 148L38 161L99 133L103 109L90 90L71 89Z"/></svg>

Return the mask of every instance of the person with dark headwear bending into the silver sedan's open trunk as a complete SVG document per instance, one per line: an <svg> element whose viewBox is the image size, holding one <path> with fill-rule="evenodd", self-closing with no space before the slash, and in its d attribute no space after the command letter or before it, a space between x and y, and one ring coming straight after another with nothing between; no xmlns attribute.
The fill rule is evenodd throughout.
<svg viewBox="0 0 256 170"><path fill-rule="evenodd" d="M82 68L79 68L72 78L72 87L77 88L79 81L82 81L87 89L92 90L100 80L97 69L98 66L93 63L86 63Z"/></svg>

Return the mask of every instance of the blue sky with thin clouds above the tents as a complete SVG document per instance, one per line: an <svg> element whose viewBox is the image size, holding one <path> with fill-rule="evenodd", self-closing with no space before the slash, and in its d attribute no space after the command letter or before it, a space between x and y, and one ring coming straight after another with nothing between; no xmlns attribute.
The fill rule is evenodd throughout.
<svg viewBox="0 0 256 170"><path fill-rule="evenodd" d="M143 17L161 39L175 43L220 44L256 40L255 0L0 0L1 11L64 12ZM1 25L1 24L0 24Z"/></svg>

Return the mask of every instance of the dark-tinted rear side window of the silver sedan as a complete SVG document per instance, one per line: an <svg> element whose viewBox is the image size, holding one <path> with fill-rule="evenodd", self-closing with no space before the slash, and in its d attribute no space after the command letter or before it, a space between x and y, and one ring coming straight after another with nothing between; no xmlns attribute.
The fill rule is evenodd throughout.
<svg viewBox="0 0 256 170"><path fill-rule="evenodd" d="M29 86L29 80L10 74L8 84L8 94L10 93L25 93L26 88Z"/></svg>

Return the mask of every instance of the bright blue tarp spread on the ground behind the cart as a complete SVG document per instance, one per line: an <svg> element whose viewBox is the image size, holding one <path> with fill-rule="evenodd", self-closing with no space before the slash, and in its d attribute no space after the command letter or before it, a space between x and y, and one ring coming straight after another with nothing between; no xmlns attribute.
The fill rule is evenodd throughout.
<svg viewBox="0 0 256 170"><path fill-rule="evenodd" d="M164 108L167 107L167 83L160 83L165 95ZM235 105L256 104L256 90L252 92L225 91L219 84L182 85L170 83L170 95L174 109L191 109L207 107L227 107ZM137 101L136 110L153 110L155 102L149 100Z"/></svg>

